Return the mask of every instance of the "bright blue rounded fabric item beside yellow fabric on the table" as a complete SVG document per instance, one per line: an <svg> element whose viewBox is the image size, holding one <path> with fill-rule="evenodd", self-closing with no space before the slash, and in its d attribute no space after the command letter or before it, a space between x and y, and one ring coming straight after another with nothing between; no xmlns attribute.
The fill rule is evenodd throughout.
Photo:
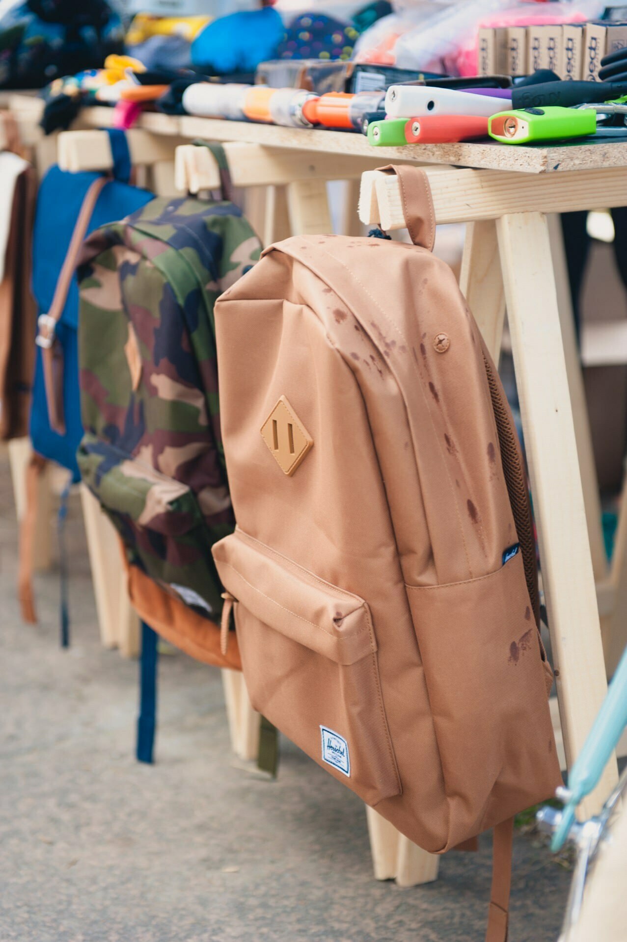
<svg viewBox="0 0 627 942"><path fill-rule="evenodd" d="M191 43L196 68L218 75L255 72L276 57L285 36L281 15L272 7L230 13L206 25Z"/></svg>

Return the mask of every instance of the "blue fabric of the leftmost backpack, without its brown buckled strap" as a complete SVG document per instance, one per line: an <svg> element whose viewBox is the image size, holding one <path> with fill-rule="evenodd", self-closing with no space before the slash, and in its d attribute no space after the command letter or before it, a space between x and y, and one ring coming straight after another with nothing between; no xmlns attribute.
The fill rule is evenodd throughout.
<svg viewBox="0 0 627 942"><path fill-rule="evenodd" d="M57 288L59 272L70 246L76 219L97 173L69 173L52 167L41 181L33 233L33 295L38 313L47 313ZM107 222L124 219L145 203L152 193L112 180L103 188L93 210L88 234ZM50 428L43 383L41 348L37 348L35 382L30 411L30 437L35 451L68 468L73 481L80 479L76 448L83 436L78 390L78 285L72 279L56 335L63 349L63 411L65 434Z"/></svg>

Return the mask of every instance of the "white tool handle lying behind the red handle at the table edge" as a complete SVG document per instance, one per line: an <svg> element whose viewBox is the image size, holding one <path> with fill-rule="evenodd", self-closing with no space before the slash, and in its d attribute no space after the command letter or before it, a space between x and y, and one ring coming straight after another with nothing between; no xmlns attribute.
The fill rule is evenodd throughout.
<svg viewBox="0 0 627 942"><path fill-rule="evenodd" d="M388 118L420 118L437 114L489 118L511 106L506 98L473 95L470 91L456 89L433 89L428 85L390 85L386 95Z"/></svg>

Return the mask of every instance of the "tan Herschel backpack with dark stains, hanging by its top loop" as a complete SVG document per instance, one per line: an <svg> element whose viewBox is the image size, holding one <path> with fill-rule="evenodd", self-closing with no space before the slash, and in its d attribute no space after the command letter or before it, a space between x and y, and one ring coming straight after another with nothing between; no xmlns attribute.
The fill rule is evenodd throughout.
<svg viewBox="0 0 627 942"><path fill-rule="evenodd" d="M513 816L561 782L526 478L427 178L389 170L414 245L289 238L216 304L213 554L257 710L426 851L496 829L503 942Z"/></svg>

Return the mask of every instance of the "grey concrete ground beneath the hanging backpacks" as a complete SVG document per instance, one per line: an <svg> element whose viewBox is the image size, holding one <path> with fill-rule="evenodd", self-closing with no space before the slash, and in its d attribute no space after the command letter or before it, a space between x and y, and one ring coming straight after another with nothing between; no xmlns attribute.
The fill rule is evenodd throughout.
<svg viewBox="0 0 627 942"><path fill-rule="evenodd" d="M99 643L85 535L69 521L72 647L58 573L20 623L0 453L0 942L480 942L489 840L437 883L376 883L361 802L282 741L276 782L232 764L220 675L161 658L157 763L133 755L137 663ZM569 871L517 835L511 942L553 942Z"/></svg>

